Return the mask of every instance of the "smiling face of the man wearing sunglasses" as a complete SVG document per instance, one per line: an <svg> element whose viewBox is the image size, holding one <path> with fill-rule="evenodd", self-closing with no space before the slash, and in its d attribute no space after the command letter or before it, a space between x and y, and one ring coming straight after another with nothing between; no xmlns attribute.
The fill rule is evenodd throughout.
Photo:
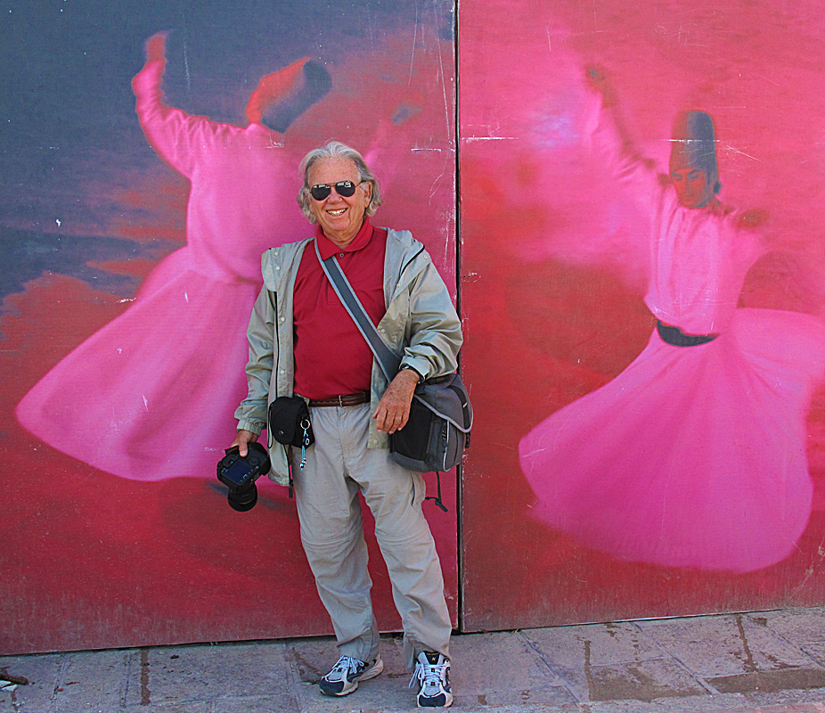
<svg viewBox="0 0 825 713"><path fill-rule="evenodd" d="M339 195L335 188L323 201L309 199L309 209L317 218L319 225L332 242L344 246L352 242L363 225L363 215L370 205L372 184L359 185L360 177L355 161L340 156L315 161L309 169L309 186L316 184L336 184L339 181L352 181L355 193L348 198Z"/></svg>

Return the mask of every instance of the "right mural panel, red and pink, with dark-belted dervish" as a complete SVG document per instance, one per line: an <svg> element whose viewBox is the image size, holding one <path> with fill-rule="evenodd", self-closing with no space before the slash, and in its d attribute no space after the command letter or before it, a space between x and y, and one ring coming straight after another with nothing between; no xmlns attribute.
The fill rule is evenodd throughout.
<svg viewBox="0 0 825 713"><path fill-rule="evenodd" d="M465 627L821 603L818 5L459 27Z"/></svg>

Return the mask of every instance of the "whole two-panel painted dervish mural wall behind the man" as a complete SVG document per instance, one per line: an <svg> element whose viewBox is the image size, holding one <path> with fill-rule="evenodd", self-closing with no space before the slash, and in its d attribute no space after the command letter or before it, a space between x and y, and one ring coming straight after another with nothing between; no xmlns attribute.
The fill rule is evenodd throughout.
<svg viewBox="0 0 825 713"><path fill-rule="evenodd" d="M460 7L0 7L0 652L329 633L286 490L215 463L332 137L460 278L457 626L825 601L818 5Z"/></svg>

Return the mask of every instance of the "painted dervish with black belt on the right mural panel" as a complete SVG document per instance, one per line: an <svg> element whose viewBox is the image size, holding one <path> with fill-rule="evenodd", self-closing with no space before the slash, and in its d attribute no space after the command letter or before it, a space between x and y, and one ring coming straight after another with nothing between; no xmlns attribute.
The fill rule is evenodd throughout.
<svg viewBox="0 0 825 713"><path fill-rule="evenodd" d="M670 170L641 155L604 70L592 133L606 176L651 217L647 347L519 445L538 520L622 561L747 572L795 551L812 506L805 417L825 377L813 316L739 307L762 211L720 191L704 111L676 119Z"/></svg>

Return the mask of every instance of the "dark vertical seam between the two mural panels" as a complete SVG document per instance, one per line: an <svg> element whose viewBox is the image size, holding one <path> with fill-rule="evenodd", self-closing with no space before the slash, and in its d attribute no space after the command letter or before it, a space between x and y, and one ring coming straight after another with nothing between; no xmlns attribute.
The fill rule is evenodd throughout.
<svg viewBox="0 0 825 713"><path fill-rule="evenodd" d="M461 124L459 123L459 52L458 52L458 18L460 0L455 0L453 4L453 96L455 115L453 119L453 137L455 141L455 307L458 314L462 316L462 180L460 173L460 152L461 152ZM461 355L459 355L459 372L461 372ZM457 579L458 579L458 605L457 618L458 630L464 630L464 548L462 537L462 505L463 505L463 479L464 465L459 463L456 467L456 491L455 491L455 540L457 558Z"/></svg>

